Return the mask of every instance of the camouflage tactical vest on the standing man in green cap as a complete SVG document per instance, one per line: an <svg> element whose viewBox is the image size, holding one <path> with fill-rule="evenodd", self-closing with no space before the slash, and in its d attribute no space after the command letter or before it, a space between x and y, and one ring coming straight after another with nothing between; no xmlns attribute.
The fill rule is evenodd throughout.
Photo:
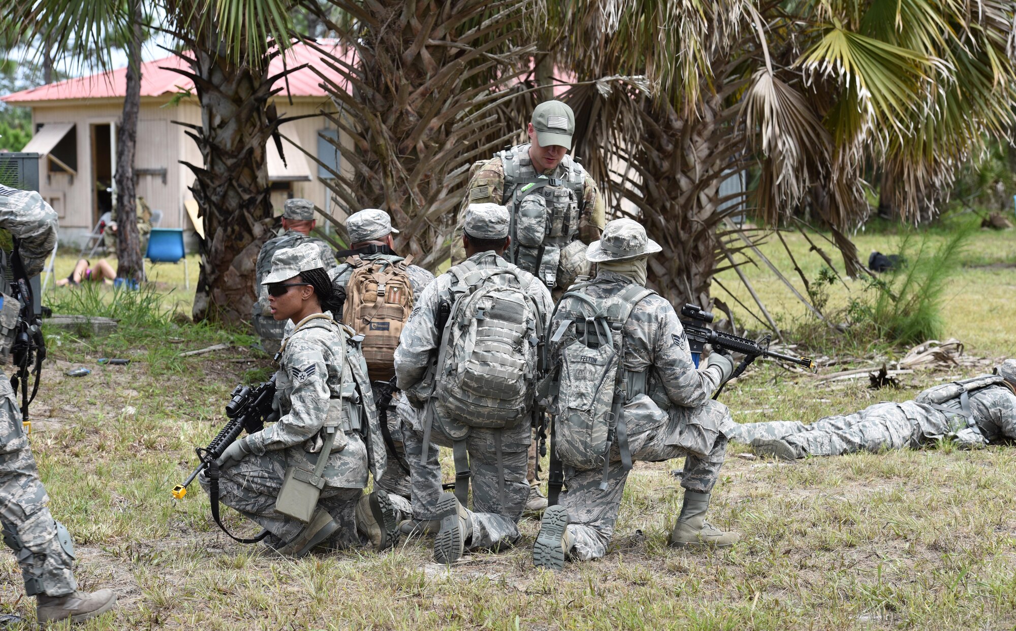
<svg viewBox="0 0 1016 631"><path fill-rule="evenodd" d="M502 204L511 217L511 246L504 256L554 287L561 249L578 235L585 171L565 155L555 169L561 178L542 176L532 166L529 146L518 145L496 154L505 171Z"/></svg>

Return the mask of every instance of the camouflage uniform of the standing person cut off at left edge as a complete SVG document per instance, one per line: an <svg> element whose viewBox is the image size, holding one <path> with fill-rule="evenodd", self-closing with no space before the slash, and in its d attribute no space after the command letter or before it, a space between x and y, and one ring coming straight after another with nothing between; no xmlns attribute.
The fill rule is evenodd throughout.
<svg viewBox="0 0 1016 631"><path fill-rule="evenodd" d="M0 227L20 239L25 272L39 274L56 243L57 213L38 193L0 187ZM16 304L8 295L3 300ZM8 330L4 328L4 333ZM9 349L9 339L3 347ZM77 588L71 571L74 555L70 535L50 514L48 503L21 426L17 399L6 376L0 377L0 523L28 595L66 595Z"/></svg>

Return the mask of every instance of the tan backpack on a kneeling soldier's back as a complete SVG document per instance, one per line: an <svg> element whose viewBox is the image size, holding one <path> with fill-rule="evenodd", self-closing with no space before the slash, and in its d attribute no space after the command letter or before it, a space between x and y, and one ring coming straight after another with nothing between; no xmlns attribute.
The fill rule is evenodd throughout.
<svg viewBox="0 0 1016 631"><path fill-rule="evenodd" d="M372 381L387 381L395 374L395 347L412 312L412 283L406 272L411 259L345 261L354 270L345 286L342 324L364 336L361 348Z"/></svg>

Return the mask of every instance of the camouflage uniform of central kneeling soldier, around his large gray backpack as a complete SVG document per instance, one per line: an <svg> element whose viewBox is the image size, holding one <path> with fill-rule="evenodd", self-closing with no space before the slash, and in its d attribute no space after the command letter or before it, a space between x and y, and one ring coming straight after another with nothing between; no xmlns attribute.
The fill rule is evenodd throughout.
<svg viewBox="0 0 1016 631"><path fill-rule="evenodd" d="M505 212L503 207L501 212ZM503 237L504 233L501 234ZM483 234L475 236L487 238ZM504 265L503 260L493 251L475 254L468 261L481 270L496 269L499 267L499 261ZM523 279L527 280L525 291L534 296L538 317L544 319L546 324L553 309L551 294L538 279L525 272L520 271L520 273ZM501 279L508 282L505 275L492 277L489 282L501 282ZM408 399L406 403L400 402L399 406L400 409L408 408L402 414L407 421L403 430L405 450L409 454L410 463L419 462L419 453L423 448L425 415L438 413L431 402L430 392L426 392L429 385L433 384L433 379L425 379L425 376L438 353L443 333L437 327L438 307L442 301L451 302L451 287L454 281L454 273L449 270L424 290L414 305L409 322L402 329L402 337L395 350L395 374L398 377L399 388L404 391ZM424 409L425 405L429 409ZM434 425L438 427L440 423ZM495 443L499 433L505 474L504 504L499 499L498 466L495 455ZM452 441L440 431L435 431L432 436L436 443L452 446ZM518 423L515 427L505 429L469 428L465 446L472 473L470 482L473 510L467 511L472 533L471 539L465 542L467 549L498 548L502 544L514 543L518 539L516 523L522 516L525 501L529 496L529 485L525 480L529 443L528 423ZM432 458L436 458L435 451L433 448L428 449ZM417 468L414 467L414 475L417 473ZM438 474L436 480L435 473ZM435 485L435 482L440 482L439 473L439 470L434 471L430 468L424 471L424 475L428 476L426 484L428 494L423 497L418 497L416 493L418 484L416 478L414 479L414 517L433 519L438 516L434 512L434 505L440 493L440 485Z"/></svg>

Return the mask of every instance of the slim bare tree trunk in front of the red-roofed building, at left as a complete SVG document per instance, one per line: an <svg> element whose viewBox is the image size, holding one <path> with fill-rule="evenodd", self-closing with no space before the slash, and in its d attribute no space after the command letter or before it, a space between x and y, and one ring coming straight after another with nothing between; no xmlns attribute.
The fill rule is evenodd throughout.
<svg viewBox="0 0 1016 631"><path fill-rule="evenodd" d="M134 195L134 150L137 142L137 116L141 107L141 3L131 7L133 27L127 46L127 92L123 116L117 129L117 276L144 280L141 238L137 231L137 205Z"/></svg>

